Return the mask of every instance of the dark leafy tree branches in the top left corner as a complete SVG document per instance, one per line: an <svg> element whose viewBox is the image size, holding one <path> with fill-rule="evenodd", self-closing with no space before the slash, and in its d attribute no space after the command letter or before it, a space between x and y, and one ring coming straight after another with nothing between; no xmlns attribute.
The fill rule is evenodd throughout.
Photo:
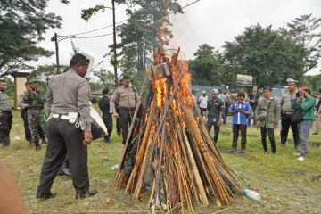
<svg viewBox="0 0 321 214"><path fill-rule="evenodd" d="M25 62L37 61L53 53L37 47L47 29L60 28L61 17L45 13L48 0L0 2L0 73L1 77L31 67ZM62 0L63 4L69 1Z"/></svg>

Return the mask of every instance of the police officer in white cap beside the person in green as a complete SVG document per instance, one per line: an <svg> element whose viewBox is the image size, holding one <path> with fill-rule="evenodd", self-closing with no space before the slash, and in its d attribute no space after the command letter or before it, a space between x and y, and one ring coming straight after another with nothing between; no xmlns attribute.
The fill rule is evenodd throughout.
<svg viewBox="0 0 321 214"><path fill-rule="evenodd" d="M291 104L296 99L297 93L296 83L297 80L288 78L287 80L289 92L282 95L280 100L281 108L281 146L286 144L289 128L291 127L294 140L294 148L297 148L300 144L299 141L299 126L298 123L291 122L291 115L293 113Z"/></svg>

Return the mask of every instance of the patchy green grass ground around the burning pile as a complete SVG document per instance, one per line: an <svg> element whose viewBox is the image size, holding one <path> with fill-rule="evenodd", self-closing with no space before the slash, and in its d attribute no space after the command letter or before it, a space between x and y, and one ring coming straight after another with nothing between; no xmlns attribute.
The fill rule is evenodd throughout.
<svg viewBox="0 0 321 214"><path fill-rule="evenodd" d="M40 169L45 155L45 146L39 152L24 141L20 111L13 111L12 144L0 149L0 159L12 170L24 202L30 213L148 213L147 197L143 201L133 200L123 190L112 191L115 171L111 166L119 163L123 145L114 130L111 144L95 140L88 148L90 185L99 193L92 198L76 200L72 182L68 177L56 177L53 192L58 196L51 200L36 200ZM114 128L115 129L115 128ZM230 154L232 144L231 127L221 128L218 148L223 159L237 174L242 188L250 188L261 194L261 202L237 196L231 207L218 208L213 198L210 206L195 206L195 213L319 213L321 210L321 148L309 147L308 158L300 162L293 155L293 144L280 147L279 131L276 136L276 155L264 154L259 131L248 128L245 155ZM20 139L13 140L15 136ZM292 136L290 136L292 137ZM310 141L321 142L321 136L310 136ZM240 142L239 142L240 144ZM268 143L269 144L269 143ZM240 146L239 146L240 147ZM270 147L268 147L270 150ZM147 194L146 194L147 195ZM224 210L226 209L226 210ZM182 208L180 208L182 210Z"/></svg>

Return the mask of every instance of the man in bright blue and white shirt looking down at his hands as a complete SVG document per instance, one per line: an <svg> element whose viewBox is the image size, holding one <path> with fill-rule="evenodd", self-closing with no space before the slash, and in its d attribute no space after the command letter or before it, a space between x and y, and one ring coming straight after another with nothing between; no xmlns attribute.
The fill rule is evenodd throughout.
<svg viewBox="0 0 321 214"><path fill-rule="evenodd" d="M236 152L237 139L241 130L241 153L245 153L247 119L248 115L251 115L252 110L249 103L244 103L244 97L244 93L237 94L237 101L228 108L228 112L233 114L233 144L229 152Z"/></svg>

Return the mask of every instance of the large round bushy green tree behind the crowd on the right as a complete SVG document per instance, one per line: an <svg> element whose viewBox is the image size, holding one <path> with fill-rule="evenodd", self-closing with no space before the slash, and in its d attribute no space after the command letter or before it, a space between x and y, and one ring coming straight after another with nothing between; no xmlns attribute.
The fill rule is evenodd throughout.
<svg viewBox="0 0 321 214"><path fill-rule="evenodd" d="M309 55L292 37L259 24L245 28L223 47L226 65L234 72L253 76L257 86L283 85L286 78L302 78L304 59Z"/></svg>

